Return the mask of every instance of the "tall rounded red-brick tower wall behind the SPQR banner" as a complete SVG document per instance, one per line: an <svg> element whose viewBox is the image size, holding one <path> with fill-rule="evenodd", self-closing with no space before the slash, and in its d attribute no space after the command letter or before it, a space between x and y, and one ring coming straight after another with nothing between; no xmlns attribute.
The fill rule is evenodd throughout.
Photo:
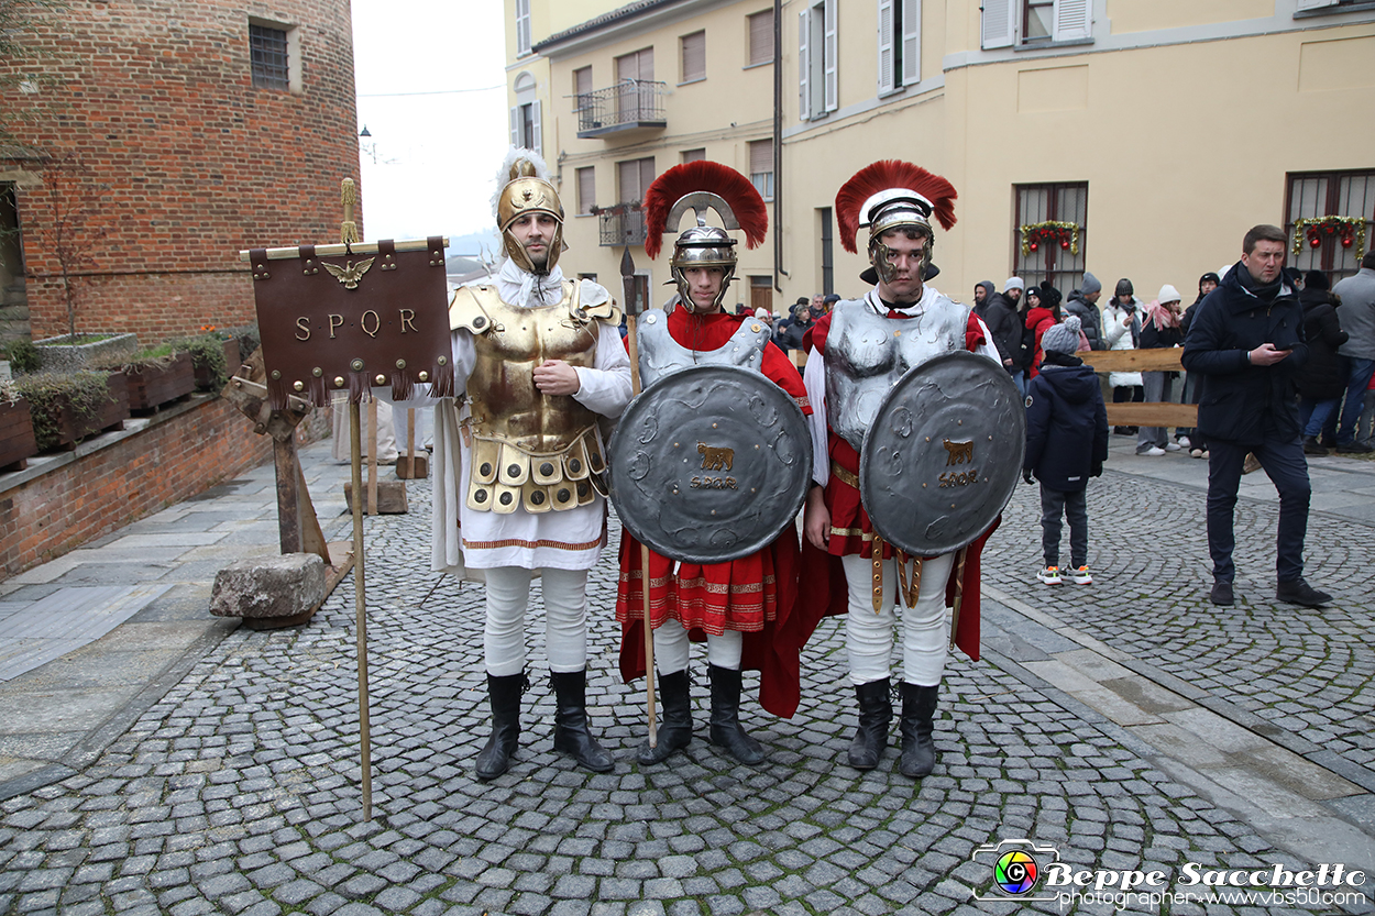
<svg viewBox="0 0 1375 916"><path fill-rule="evenodd" d="M78 330L155 344L245 323L254 309L241 249L338 241L338 183L359 176L348 0L91 0L45 15L22 44L60 84L36 95L6 85L0 109L33 113L11 121L19 138L81 164L59 204L89 210L72 219L89 274ZM296 26L301 92L253 88L250 15ZM0 74L22 72L0 62ZM33 336L62 334L43 166L8 165Z"/></svg>

